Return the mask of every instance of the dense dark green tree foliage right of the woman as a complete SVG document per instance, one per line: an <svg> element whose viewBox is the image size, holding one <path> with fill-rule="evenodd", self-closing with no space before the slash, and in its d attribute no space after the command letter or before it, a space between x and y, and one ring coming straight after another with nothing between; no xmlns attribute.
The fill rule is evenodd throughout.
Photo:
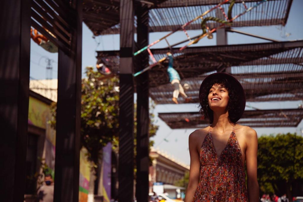
<svg viewBox="0 0 303 202"><path fill-rule="evenodd" d="M303 137L278 134L258 138L258 183L261 193L286 193L303 180Z"/></svg>

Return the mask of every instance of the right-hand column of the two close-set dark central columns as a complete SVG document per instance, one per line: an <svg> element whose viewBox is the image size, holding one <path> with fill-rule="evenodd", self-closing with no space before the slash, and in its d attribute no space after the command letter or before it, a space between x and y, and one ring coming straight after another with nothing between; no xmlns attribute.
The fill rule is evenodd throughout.
<svg viewBox="0 0 303 202"><path fill-rule="evenodd" d="M141 49L148 45L148 8L138 6L137 15L137 44ZM148 52L142 52L136 58L136 71L148 66ZM149 169L149 79L148 71L137 76L137 178L136 178L136 198L140 202L148 202L148 169Z"/></svg>

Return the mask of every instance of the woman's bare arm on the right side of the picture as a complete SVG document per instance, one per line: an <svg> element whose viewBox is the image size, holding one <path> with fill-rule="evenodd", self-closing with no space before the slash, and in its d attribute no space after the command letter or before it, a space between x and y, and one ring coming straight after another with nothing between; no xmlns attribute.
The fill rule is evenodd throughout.
<svg viewBox="0 0 303 202"><path fill-rule="evenodd" d="M259 201L259 185L257 181L257 152L258 137L254 129L247 131L246 141L246 168L247 168L247 188L249 202Z"/></svg>

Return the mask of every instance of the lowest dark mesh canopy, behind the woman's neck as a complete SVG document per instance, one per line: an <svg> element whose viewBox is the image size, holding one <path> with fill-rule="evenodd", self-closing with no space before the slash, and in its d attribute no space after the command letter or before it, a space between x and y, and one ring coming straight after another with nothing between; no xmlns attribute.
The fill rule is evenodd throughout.
<svg viewBox="0 0 303 202"><path fill-rule="evenodd" d="M209 125L199 112L159 113L171 129L203 128ZM272 109L244 111L237 122L249 127L297 127L303 118L303 109Z"/></svg>

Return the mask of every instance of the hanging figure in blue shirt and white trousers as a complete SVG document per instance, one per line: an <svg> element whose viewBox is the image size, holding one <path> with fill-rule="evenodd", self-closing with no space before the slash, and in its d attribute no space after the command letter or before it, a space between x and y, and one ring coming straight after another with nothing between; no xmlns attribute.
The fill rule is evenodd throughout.
<svg viewBox="0 0 303 202"><path fill-rule="evenodd" d="M176 104L178 104L178 96L179 93L182 95L182 97L185 99L185 102L188 103L190 102L191 98L188 98L188 96L185 94L182 85L180 84L180 75L178 72L173 68L173 62L174 59L171 55L171 52L167 52L168 55L168 77L169 77L169 82L171 82L171 85L174 87L174 92L173 92L173 97L172 101L174 101ZM188 84L184 84L184 87L188 87Z"/></svg>

